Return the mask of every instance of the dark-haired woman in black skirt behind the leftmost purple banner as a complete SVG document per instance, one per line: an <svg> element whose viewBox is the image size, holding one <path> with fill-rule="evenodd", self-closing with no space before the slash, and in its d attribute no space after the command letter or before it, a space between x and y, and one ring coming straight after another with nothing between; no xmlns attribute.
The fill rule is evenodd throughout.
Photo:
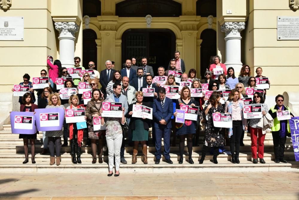
<svg viewBox="0 0 299 200"><path fill-rule="evenodd" d="M35 109L37 109L37 105L33 104L32 102L32 96L30 93L25 93L22 96L22 102L20 106L21 112L34 112ZM36 131L36 133L38 133ZM31 162L32 164L35 162L35 139L36 139L36 133L35 134L19 134L19 139L23 139L24 143L24 152L25 152L25 160L23 164L28 163L28 140L30 140L31 145Z"/></svg>

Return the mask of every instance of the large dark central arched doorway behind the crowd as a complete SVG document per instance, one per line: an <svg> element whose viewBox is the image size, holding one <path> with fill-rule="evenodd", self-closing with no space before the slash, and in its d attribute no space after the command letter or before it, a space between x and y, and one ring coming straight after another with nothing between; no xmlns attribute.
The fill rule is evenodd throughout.
<svg viewBox="0 0 299 200"><path fill-rule="evenodd" d="M176 36L169 29L129 29L122 35L122 62L135 57L141 66L141 57L147 57L147 65L152 66L157 75L158 67L168 67L176 50Z"/></svg>

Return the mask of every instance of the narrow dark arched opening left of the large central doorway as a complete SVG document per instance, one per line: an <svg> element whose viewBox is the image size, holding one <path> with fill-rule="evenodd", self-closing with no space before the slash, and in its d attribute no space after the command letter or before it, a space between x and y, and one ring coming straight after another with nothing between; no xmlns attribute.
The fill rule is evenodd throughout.
<svg viewBox="0 0 299 200"><path fill-rule="evenodd" d="M93 61L97 70L97 34L91 29L83 30L83 58L82 66L88 69L88 63ZM100 67L98 68L100 69Z"/></svg>

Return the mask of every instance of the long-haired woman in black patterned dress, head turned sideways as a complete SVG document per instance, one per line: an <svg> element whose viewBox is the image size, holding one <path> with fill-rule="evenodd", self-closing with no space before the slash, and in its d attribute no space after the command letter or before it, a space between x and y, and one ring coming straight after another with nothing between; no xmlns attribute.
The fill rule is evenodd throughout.
<svg viewBox="0 0 299 200"><path fill-rule="evenodd" d="M224 135L222 134L222 128L214 127L213 125L213 113L224 113L224 109L220 101L220 93L214 91L203 112L207 119L205 125L205 143L202 148L202 157L199 164L202 164L205 160L205 155L208 151L208 147L214 147L213 161L215 164L218 163L217 156L219 153L219 146L224 146Z"/></svg>

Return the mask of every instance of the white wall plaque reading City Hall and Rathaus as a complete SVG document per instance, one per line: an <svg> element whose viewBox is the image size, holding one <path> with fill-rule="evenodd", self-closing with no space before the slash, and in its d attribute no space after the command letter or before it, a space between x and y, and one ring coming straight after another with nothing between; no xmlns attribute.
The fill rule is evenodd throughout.
<svg viewBox="0 0 299 200"><path fill-rule="evenodd" d="M24 40L24 17L0 17L0 40Z"/></svg>

